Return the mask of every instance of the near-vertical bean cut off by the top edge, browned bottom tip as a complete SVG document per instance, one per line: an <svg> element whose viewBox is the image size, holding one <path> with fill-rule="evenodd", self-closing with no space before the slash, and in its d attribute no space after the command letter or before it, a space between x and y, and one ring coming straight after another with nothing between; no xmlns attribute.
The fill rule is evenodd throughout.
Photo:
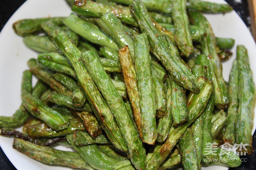
<svg viewBox="0 0 256 170"><path fill-rule="evenodd" d="M189 32L189 18L186 12L186 0L172 1L172 18L175 26L175 42L184 56L189 56L193 50L192 38Z"/></svg>

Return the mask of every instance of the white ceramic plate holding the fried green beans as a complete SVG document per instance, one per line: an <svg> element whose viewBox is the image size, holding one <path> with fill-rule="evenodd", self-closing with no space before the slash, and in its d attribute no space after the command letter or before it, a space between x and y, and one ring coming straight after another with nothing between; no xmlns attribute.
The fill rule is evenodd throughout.
<svg viewBox="0 0 256 170"><path fill-rule="evenodd" d="M213 1L213 0L212 0ZM224 0L214 0L213 2L225 3ZM19 19L39 18L39 17L60 17L68 16L71 10L64 0L27 0L9 19L0 34L0 115L11 116L21 104L21 77L22 71L27 69L27 60L36 58L37 53L26 48L22 42L22 37L17 36L12 30L12 23ZM215 35L218 37L232 37L235 39L235 46L243 44L248 49L251 69L254 72L256 81L256 44L251 33L245 26L241 18L233 11L228 14L206 15L209 19ZM229 73L232 62L236 57L235 48L232 58L223 63L223 76L229 80ZM256 128L254 119L253 132ZM70 169L66 167L53 167L35 161L19 153L12 148L12 138L0 136L0 146L9 160L18 170L36 169ZM65 149L65 148L59 148ZM202 168L206 169L206 168ZM225 167L208 167L210 169L227 170Z"/></svg>

